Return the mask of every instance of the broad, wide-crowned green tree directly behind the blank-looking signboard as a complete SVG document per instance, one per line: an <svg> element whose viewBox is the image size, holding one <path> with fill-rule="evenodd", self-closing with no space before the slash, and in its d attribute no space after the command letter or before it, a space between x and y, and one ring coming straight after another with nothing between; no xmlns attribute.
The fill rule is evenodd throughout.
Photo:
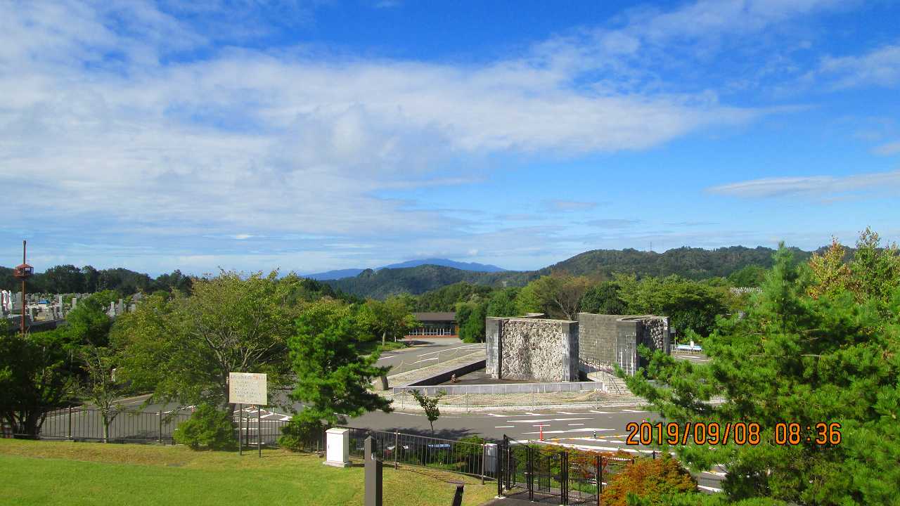
<svg viewBox="0 0 900 506"><path fill-rule="evenodd" d="M266 373L270 391L283 387L296 310L276 275L223 271L195 280L189 296L147 297L112 330L123 375L153 401L194 405L225 406L229 373Z"/></svg>

